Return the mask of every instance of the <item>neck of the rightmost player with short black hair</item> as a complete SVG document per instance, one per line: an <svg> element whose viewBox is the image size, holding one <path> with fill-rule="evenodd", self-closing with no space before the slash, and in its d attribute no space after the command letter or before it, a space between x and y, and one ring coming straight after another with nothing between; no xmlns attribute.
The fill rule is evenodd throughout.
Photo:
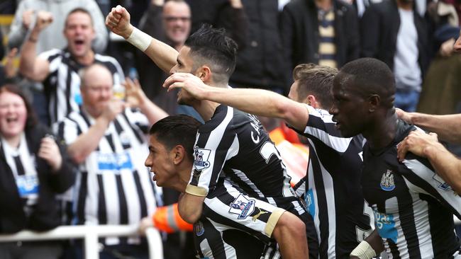
<svg viewBox="0 0 461 259"><path fill-rule="evenodd" d="M394 140L396 127L397 116L393 111L389 111L384 120L377 118L370 129L363 133L363 136L367 139L370 149L384 149Z"/></svg>

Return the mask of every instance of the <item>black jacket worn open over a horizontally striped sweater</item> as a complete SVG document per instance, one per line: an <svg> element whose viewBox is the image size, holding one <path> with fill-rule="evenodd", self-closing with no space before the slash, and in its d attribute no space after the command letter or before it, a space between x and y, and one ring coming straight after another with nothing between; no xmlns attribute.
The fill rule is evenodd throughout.
<svg viewBox="0 0 461 259"><path fill-rule="evenodd" d="M359 57L360 39L357 11L333 0L335 45L338 67ZM303 63L318 64L318 8L313 0L293 0L284 7L281 19L284 54L290 69ZM291 74L291 71L289 71Z"/></svg>

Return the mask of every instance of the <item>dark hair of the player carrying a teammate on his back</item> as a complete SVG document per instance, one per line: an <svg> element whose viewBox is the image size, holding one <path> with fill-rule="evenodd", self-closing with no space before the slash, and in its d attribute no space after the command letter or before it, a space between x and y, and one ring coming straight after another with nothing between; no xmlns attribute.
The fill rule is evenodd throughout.
<svg viewBox="0 0 461 259"><path fill-rule="evenodd" d="M195 137L200 126L201 122L189 115L171 115L155 122L150 127L149 134L157 137L167 149L176 145L184 146L187 157L193 160Z"/></svg>

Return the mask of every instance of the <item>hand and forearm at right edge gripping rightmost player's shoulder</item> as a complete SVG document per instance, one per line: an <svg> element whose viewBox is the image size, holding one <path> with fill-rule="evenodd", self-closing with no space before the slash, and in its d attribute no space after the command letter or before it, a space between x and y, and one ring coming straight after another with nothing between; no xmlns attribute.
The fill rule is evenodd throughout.
<svg viewBox="0 0 461 259"><path fill-rule="evenodd" d="M437 134L426 134L422 131L413 131L402 141L398 148L400 161L404 161L406 153L411 152L422 156L431 162L435 172L451 186L455 192L461 194L461 160L450 153L437 139Z"/></svg>

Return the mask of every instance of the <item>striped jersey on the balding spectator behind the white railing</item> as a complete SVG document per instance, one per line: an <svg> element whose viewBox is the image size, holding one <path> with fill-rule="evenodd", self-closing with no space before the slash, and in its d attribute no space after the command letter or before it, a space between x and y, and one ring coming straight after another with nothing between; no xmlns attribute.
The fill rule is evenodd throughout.
<svg viewBox="0 0 461 259"><path fill-rule="evenodd" d="M67 144L88 131L94 118L84 110L72 112L55 125ZM74 224L138 224L155 211L159 189L152 182L144 159L148 144L144 132L149 122L138 111L118 114L99 146L79 166L74 185ZM106 245L124 243L126 238L106 238ZM128 239L137 243L138 238Z"/></svg>

